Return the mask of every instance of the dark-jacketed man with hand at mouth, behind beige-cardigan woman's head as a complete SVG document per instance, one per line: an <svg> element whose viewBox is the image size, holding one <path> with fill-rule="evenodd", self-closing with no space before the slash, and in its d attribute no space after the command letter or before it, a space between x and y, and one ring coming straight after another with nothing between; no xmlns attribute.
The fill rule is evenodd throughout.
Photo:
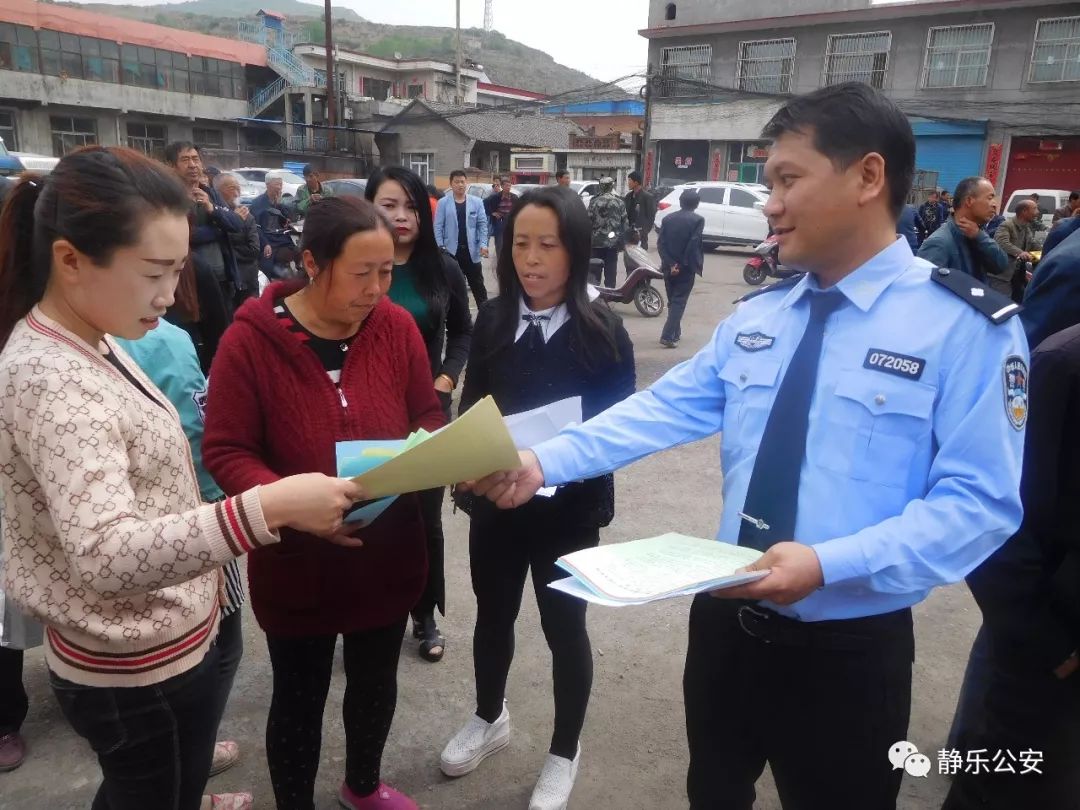
<svg viewBox="0 0 1080 810"><path fill-rule="evenodd" d="M237 291L243 281L237 269L229 234L243 230L243 220L225 204L217 192L202 185L204 177L199 149L186 140L176 140L165 148L165 162L173 167L191 195L191 254L199 259L200 272L212 272L221 289L221 300L231 312Z"/></svg>

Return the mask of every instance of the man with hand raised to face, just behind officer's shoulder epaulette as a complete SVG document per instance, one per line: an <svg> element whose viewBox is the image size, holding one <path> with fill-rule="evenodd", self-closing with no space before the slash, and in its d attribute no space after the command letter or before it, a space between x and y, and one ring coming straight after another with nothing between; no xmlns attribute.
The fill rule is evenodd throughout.
<svg viewBox="0 0 1080 810"><path fill-rule="evenodd" d="M967 177L956 187L956 213L931 233L919 248L919 258L936 267L973 275L985 282L987 275L1003 273L1009 257L983 230L997 213L994 186L985 177Z"/></svg>

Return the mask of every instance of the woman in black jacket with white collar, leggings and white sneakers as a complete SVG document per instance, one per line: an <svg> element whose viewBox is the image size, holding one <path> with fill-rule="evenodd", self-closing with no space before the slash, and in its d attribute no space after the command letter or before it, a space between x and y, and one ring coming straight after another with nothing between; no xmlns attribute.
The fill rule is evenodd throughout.
<svg viewBox="0 0 1080 810"><path fill-rule="evenodd" d="M589 300L591 238L589 215L568 189L529 191L514 204L499 254L500 295L476 315L462 410L488 394L503 414L580 396L589 419L634 393L630 336L606 305ZM615 515L613 478L568 484L510 511L475 499L470 511L476 714L447 743L442 769L464 775L510 740L507 675L531 568L552 652L555 727L529 807L562 810L578 772L593 660L585 604L548 584L561 576L559 556L599 542Z"/></svg>

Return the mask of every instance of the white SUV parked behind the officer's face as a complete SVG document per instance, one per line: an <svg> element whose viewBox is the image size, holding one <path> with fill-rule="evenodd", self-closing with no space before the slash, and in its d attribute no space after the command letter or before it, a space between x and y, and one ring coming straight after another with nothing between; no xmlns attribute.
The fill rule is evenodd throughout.
<svg viewBox="0 0 1080 810"><path fill-rule="evenodd" d="M750 183L701 181L676 186L657 204L657 228L664 217L678 211L678 198L687 189L697 189L701 203L698 213L705 218L705 247L716 245L756 245L769 234L769 221L760 211L769 199L764 186Z"/></svg>

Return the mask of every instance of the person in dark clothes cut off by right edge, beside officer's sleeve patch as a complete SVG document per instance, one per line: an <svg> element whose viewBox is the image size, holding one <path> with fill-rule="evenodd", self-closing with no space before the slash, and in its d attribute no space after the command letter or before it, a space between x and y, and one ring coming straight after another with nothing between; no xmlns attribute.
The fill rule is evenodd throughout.
<svg viewBox="0 0 1080 810"><path fill-rule="evenodd" d="M1030 409L1024 523L968 576L985 640L966 688L985 686L963 745L998 761L959 769L943 810L1066 808L1080 794L1080 325L1031 352Z"/></svg>

